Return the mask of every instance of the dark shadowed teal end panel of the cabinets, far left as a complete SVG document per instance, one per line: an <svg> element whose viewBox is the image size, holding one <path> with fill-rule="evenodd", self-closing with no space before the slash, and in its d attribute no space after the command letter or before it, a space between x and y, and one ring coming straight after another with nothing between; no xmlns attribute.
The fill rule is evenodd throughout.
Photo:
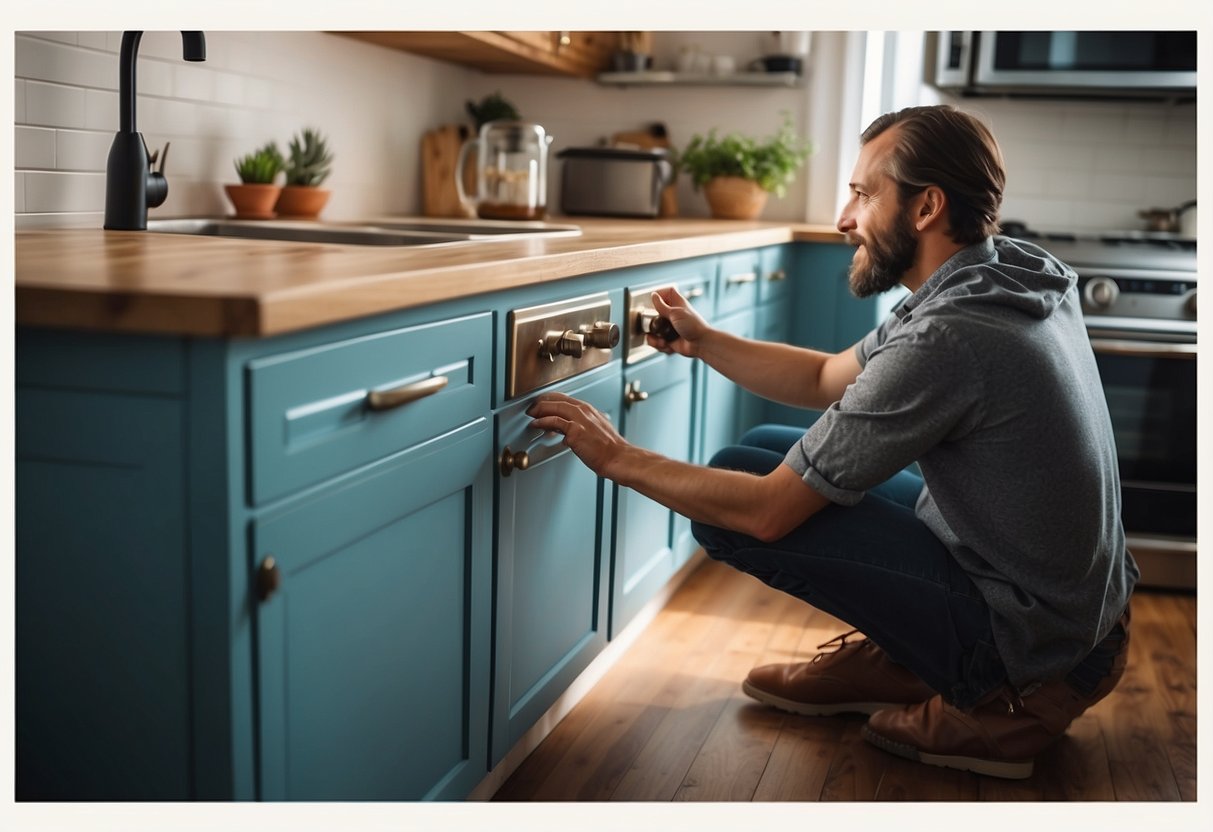
<svg viewBox="0 0 1213 832"><path fill-rule="evenodd" d="M195 797L182 410L17 388L18 800Z"/></svg>

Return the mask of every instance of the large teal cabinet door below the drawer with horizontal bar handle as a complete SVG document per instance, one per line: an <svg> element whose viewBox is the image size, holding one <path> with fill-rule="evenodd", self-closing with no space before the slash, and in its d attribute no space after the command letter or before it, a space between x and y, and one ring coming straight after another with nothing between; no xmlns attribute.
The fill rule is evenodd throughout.
<svg viewBox="0 0 1213 832"><path fill-rule="evenodd" d="M258 519L261 798L465 797L488 771L482 417Z"/></svg>

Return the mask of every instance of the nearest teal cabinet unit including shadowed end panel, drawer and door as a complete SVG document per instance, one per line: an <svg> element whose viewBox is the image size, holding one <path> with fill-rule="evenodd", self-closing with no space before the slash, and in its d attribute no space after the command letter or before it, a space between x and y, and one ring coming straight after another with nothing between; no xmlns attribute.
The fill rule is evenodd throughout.
<svg viewBox="0 0 1213 832"><path fill-rule="evenodd" d="M434 309L266 340L18 330L17 798L466 796L491 338L491 313Z"/></svg>

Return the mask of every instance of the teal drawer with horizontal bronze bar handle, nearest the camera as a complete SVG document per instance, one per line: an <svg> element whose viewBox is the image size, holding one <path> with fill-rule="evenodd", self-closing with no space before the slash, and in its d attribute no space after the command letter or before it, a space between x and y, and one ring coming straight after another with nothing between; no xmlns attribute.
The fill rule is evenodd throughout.
<svg viewBox="0 0 1213 832"><path fill-rule="evenodd" d="M250 361L252 502L486 415L491 341L491 315L484 313Z"/></svg>

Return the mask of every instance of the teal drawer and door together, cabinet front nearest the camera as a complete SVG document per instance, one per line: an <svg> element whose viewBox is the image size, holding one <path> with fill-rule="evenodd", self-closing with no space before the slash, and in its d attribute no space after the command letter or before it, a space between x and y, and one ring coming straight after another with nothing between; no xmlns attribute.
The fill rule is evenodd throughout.
<svg viewBox="0 0 1213 832"><path fill-rule="evenodd" d="M452 799L488 771L490 337L480 314L247 365L255 495L382 457L252 519L262 799Z"/></svg>

